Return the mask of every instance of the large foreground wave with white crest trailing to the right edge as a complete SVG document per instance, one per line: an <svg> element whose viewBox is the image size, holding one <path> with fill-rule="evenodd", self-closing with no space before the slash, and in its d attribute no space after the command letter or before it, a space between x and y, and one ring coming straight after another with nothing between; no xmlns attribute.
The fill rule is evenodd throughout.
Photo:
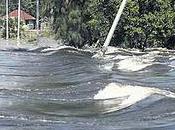
<svg viewBox="0 0 175 130"><path fill-rule="evenodd" d="M110 108L108 107L106 110L106 112L109 113L132 106L151 95L160 95L164 97L175 98L175 93L167 90L110 83L94 96L94 100L101 100L100 103L103 105L100 104L100 106L112 106ZM120 102L116 100L119 98L122 98Z"/></svg>

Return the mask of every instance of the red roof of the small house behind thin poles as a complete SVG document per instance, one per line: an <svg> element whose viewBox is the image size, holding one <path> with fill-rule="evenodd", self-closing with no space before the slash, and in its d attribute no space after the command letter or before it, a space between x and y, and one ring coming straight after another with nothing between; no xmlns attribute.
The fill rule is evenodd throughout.
<svg viewBox="0 0 175 130"><path fill-rule="evenodd" d="M35 20L36 19L32 15L30 15L22 10L20 11L20 16L21 16L21 20ZM10 12L9 17L10 18L18 17L18 10L14 10L14 11Z"/></svg>

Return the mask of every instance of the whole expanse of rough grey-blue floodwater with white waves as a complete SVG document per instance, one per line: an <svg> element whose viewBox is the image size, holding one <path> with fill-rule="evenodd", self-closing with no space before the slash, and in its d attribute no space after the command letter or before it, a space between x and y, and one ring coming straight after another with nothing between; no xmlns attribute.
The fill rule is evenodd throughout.
<svg viewBox="0 0 175 130"><path fill-rule="evenodd" d="M0 51L1 130L174 130L175 54L109 47Z"/></svg>

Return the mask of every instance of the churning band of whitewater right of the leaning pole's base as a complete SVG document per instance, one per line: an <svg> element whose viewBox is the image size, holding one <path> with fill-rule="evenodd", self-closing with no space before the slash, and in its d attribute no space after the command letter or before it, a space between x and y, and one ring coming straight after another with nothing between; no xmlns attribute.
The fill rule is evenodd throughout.
<svg viewBox="0 0 175 130"><path fill-rule="evenodd" d="M165 68L175 66L174 53L161 48L150 48L146 52L140 52L137 49L108 47L105 55L101 56L97 53L94 57L108 62L102 66L104 70L112 70L113 67L117 67L120 71L138 72L149 69L153 65L165 65Z"/></svg>

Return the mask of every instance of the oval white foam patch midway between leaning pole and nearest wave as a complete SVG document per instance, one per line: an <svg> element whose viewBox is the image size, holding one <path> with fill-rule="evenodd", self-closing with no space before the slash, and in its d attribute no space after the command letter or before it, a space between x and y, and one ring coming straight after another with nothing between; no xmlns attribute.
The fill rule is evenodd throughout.
<svg viewBox="0 0 175 130"><path fill-rule="evenodd" d="M152 65L153 59L146 57L129 57L118 62L118 69L124 71L139 71Z"/></svg>

